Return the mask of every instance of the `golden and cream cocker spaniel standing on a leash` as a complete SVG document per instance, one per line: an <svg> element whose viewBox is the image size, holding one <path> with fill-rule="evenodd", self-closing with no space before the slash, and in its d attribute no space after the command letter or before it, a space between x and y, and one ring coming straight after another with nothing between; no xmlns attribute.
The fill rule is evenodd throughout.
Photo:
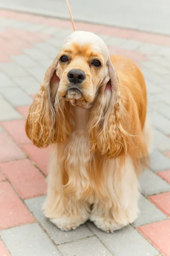
<svg viewBox="0 0 170 256"><path fill-rule="evenodd" d="M113 232L136 219L151 138L146 111L144 77L133 61L110 56L91 32L65 39L26 121L34 145L51 145L43 209L59 229L89 219Z"/></svg>

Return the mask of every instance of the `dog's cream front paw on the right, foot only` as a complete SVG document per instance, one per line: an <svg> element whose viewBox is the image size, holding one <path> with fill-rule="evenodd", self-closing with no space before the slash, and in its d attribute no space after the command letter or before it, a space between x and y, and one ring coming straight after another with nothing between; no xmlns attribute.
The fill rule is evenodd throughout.
<svg viewBox="0 0 170 256"><path fill-rule="evenodd" d="M118 224L113 219L110 218L92 216L90 220L93 221L99 229L107 233L113 233L113 231L119 230L124 227L124 225Z"/></svg>

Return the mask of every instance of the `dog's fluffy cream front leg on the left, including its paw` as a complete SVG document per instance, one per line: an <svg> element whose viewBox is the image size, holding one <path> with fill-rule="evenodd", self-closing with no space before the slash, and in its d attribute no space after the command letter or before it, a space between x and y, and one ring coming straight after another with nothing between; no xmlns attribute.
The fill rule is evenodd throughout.
<svg viewBox="0 0 170 256"><path fill-rule="evenodd" d="M44 214L61 230L72 230L85 223L89 218L90 206L87 202L80 201L65 193L63 187L63 155L62 147L53 148L49 175L47 198L43 206ZM57 158L59 160L57 160ZM66 181L67 183L67 181Z"/></svg>

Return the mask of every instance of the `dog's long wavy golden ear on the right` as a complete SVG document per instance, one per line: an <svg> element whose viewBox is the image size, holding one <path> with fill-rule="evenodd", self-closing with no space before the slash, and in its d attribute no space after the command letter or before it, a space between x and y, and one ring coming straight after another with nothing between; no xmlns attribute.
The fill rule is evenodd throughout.
<svg viewBox="0 0 170 256"><path fill-rule="evenodd" d="M100 87L89 121L89 140L93 151L118 157L126 154L128 132L122 116L119 79L110 57L107 62L110 81Z"/></svg>

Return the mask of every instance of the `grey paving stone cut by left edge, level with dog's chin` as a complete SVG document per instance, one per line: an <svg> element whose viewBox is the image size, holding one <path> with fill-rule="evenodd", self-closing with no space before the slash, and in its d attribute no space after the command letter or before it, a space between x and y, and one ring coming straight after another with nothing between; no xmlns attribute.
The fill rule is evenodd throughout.
<svg viewBox="0 0 170 256"><path fill-rule="evenodd" d="M33 99L18 87L0 88L0 93L13 105L30 105Z"/></svg>

